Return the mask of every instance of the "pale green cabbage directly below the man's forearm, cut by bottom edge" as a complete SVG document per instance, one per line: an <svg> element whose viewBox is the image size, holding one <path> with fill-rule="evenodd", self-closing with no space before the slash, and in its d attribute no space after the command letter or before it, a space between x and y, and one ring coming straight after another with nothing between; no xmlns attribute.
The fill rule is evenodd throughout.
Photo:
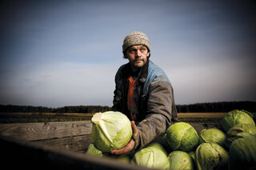
<svg viewBox="0 0 256 170"><path fill-rule="evenodd" d="M142 148L136 152L131 163L145 166L147 168L170 168L170 162L168 160L166 150L157 142L151 143L146 148Z"/></svg>

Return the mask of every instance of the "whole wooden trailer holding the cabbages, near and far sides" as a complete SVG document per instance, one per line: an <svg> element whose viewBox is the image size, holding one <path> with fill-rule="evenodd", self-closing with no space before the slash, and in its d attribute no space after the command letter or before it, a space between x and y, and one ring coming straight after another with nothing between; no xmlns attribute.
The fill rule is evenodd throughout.
<svg viewBox="0 0 256 170"><path fill-rule="evenodd" d="M190 123L200 132L216 124ZM0 124L2 169L151 169L86 154L90 121Z"/></svg>

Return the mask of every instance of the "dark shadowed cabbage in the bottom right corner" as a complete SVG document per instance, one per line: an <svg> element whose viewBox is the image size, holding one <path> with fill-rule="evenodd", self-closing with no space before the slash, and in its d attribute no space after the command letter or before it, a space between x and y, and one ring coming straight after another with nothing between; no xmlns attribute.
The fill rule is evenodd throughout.
<svg viewBox="0 0 256 170"><path fill-rule="evenodd" d="M256 136L246 132L238 134L230 145L230 169L256 168Z"/></svg>

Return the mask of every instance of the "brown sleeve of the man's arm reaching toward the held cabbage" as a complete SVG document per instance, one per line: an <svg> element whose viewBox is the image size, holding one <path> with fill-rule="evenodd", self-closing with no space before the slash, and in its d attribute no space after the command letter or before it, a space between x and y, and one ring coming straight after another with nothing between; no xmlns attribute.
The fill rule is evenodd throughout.
<svg viewBox="0 0 256 170"><path fill-rule="evenodd" d="M134 136L134 150L145 147L170 127L172 109L175 109L170 82L157 81L150 85L147 106L148 115L138 124L138 136Z"/></svg>

